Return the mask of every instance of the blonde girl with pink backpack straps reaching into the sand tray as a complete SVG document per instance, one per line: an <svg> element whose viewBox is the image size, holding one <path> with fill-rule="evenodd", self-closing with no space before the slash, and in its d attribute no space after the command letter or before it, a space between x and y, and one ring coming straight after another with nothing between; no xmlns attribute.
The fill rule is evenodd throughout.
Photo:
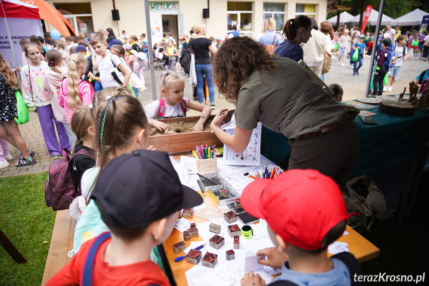
<svg viewBox="0 0 429 286"><path fill-rule="evenodd" d="M182 76L172 71L163 71L160 79L161 99L155 100L145 106L146 115L152 126L164 132L169 126L161 121L155 120L155 118L183 117L186 116L186 111L189 108L202 112L201 118L198 120L197 124L190 129L194 132L204 129L204 123L211 113L210 107L183 97L184 88L185 81Z"/></svg>

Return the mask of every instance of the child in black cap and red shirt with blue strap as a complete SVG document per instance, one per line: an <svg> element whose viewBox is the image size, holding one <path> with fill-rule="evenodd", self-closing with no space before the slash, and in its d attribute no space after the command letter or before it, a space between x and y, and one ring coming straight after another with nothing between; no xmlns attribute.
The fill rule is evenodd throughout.
<svg viewBox="0 0 429 286"><path fill-rule="evenodd" d="M46 285L170 285L150 251L170 236L181 208L203 199L180 184L167 153L136 150L113 159L91 198L110 232L84 243Z"/></svg>

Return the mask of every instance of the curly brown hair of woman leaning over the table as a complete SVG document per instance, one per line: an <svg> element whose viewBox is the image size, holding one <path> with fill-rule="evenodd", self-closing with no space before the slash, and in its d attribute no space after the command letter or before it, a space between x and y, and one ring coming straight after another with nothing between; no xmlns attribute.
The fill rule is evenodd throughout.
<svg viewBox="0 0 429 286"><path fill-rule="evenodd" d="M276 69L265 47L250 37L233 37L222 44L213 60L214 83L228 102L237 104L241 86L255 71Z"/></svg>

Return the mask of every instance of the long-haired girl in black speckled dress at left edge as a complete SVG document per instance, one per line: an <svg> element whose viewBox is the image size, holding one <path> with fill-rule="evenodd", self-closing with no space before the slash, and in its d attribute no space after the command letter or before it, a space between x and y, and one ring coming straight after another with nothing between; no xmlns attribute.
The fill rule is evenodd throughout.
<svg viewBox="0 0 429 286"><path fill-rule="evenodd" d="M37 162L27 150L24 138L19 132L18 124L14 120L17 113L15 91L18 89L18 80L0 53L0 138L5 139L22 153L22 156L15 164L15 166L21 167L34 165ZM12 156L7 152L7 147L7 143L1 140L0 169L9 166L6 160L13 160Z"/></svg>

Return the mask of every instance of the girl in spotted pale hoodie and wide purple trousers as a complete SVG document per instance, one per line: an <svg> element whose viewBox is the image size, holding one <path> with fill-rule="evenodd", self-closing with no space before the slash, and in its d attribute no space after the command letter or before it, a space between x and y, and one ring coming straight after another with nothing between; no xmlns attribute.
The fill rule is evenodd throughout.
<svg viewBox="0 0 429 286"><path fill-rule="evenodd" d="M53 159L59 159L63 148L70 150L70 142L64 124L55 118L51 105L52 94L43 89L43 79L50 69L48 64L41 60L38 45L28 43L24 46L24 51L30 63L21 70L22 98L29 110L37 110L48 152ZM57 127L60 144L54 124Z"/></svg>

